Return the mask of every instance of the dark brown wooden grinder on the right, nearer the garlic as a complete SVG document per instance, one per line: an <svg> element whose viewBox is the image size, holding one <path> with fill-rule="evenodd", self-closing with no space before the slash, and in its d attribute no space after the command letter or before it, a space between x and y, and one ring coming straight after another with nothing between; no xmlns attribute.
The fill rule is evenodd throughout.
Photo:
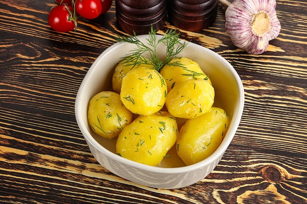
<svg viewBox="0 0 307 204"><path fill-rule="evenodd" d="M168 0L168 21L187 31L200 31L216 19L218 0Z"/></svg>

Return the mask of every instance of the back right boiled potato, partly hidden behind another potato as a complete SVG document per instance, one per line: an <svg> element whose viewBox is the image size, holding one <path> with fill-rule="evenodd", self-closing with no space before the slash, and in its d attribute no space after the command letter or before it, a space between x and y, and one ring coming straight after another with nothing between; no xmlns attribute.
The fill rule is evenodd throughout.
<svg viewBox="0 0 307 204"><path fill-rule="evenodd" d="M189 79L206 79L211 84L209 77L198 63L186 57L172 59L161 69L160 73L165 79L168 92L179 83Z"/></svg>

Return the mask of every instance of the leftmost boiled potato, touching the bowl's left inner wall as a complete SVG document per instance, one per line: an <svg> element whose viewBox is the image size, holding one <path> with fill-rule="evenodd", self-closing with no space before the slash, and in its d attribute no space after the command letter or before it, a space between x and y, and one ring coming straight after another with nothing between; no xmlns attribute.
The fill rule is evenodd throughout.
<svg viewBox="0 0 307 204"><path fill-rule="evenodd" d="M108 139L118 136L132 121L132 113L123 105L120 95L113 91L102 91L92 97L87 116L93 131Z"/></svg>

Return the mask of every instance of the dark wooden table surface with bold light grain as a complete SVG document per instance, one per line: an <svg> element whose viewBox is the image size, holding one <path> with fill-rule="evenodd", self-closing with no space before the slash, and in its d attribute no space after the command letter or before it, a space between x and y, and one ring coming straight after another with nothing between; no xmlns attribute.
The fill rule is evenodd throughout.
<svg viewBox="0 0 307 204"><path fill-rule="evenodd" d="M245 107L224 157L181 189L115 176L92 156L77 126L75 98L94 60L124 35L115 3L77 32L48 25L52 0L0 0L0 203L307 203L307 1L277 0L281 33L261 55L232 45L225 9L181 38L226 58L245 89ZM176 27L166 23L159 31Z"/></svg>

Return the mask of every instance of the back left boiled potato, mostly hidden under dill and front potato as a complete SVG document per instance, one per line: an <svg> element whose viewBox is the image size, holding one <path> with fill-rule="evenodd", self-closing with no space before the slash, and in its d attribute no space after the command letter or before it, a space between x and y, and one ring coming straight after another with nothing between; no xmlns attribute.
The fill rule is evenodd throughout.
<svg viewBox="0 0 307 204"><path fill-rule="evenodd" d="M141 57L141 60L144 60L144 57ZM150 60L146 59L150 62ZM120 93L122 87L122 80L123 77L133 68L138 67L146 67L146 68L153 68L153 65L150 64L134 64L137 61L137 58L125 58L124 60L120 61L119 64L115 67L113 76L112 76L112 88L115 92Z"/></svg>

